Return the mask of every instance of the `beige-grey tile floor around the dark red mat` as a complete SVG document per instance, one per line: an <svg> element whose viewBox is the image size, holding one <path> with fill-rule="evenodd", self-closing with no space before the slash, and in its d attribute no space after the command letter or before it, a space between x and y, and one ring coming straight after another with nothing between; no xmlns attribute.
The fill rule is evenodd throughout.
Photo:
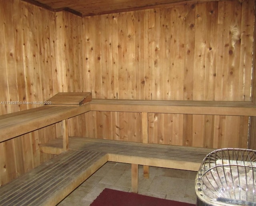
<svg viewBox="0 0 256 206"><path fill-rule="evenodd" d="M138 193L196 204L194 180L196 172L150 167L150 177L143 177L139 166ZM107 162L58 206L89 206L104 188L131 191L131 165Z"/></svg>

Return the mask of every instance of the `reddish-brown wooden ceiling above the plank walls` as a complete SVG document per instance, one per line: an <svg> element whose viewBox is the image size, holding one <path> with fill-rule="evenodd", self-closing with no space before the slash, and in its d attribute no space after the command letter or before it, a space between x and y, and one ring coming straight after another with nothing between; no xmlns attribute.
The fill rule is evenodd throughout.
<svg viewBox="0 0 256 206"><path fill-rule="evenodd" d="M44 8L61 11L67 10L79 16L111 14L132 10L149 9L168 4L187 2L206 2L209 0L24 0Z"/></svg>

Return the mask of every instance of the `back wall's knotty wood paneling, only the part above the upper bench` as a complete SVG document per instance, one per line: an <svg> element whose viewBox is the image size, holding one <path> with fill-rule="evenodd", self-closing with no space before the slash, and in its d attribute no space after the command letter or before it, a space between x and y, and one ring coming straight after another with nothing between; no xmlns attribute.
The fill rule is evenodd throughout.
<svg viewBox="0 0 256 206"><path fill-rule="evenodd" d="M252 58L254 14L242 15L243 5L209 2L83 18L93 97L250 101L252 61L239 59ZM104 26L113 20L117 25ZM118 59L108 62L106 55Z"/></svg>

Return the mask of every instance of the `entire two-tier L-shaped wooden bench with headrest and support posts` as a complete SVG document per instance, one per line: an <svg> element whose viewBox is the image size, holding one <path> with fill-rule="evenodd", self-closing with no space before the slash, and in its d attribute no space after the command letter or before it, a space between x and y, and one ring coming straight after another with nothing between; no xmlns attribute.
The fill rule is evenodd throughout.
<svg viewBox="0 0 256 206"><path fill-rule="evenodd" d="M256 116L251 102L91 100L89 93L59 93L49 102L52 104L0 116L0 142L60 121L63 126L62 138L40 145L42 152L59 155L1 186L0 205L20 205L22 198L24 205L55 205L108 160L132 164L133 192L138 191L138 164L144 165L145 176L149 166L197 171L212 149L148 144L148 113ZM69 137L68 118L88 111L141 112L143 143Z"/></svg>

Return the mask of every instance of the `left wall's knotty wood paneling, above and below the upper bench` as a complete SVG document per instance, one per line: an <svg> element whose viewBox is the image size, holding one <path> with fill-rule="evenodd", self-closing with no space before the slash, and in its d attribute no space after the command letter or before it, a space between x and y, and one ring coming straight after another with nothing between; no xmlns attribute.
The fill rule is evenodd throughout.
<svg viewBox="0 0 256 206"><path fill-rule="evenodd" d="M38 107L32 102L58 92L54 12L19 0L1 0L0 27L0 114ZM54 136L52 125L0 143L0 185L52 157L41 154L38 143Z"/></svg>

